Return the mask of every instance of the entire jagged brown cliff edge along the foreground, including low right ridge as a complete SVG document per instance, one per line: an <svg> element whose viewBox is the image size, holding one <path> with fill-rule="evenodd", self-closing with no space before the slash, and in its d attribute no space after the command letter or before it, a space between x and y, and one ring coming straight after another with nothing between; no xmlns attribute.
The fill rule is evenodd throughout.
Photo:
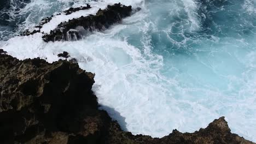
<svg viewBox="0 0 256 144"><path fill-rule="evenodd" d="M0 143L253 143L231 134L224 117L195 133L132 135L98 110L93 83L77 63L0 54Z"/></svg>

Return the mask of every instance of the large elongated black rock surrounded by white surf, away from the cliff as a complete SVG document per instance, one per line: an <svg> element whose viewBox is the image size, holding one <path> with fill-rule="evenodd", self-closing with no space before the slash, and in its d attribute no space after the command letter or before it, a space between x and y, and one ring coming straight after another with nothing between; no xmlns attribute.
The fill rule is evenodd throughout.
<svg viewBox="0 0 256 144"><path fill-rule="evenodd" d="M45 34L42 38L45 42L60 40L77 40L83 35L92 31L103 31L114 23L118 23L124 17L130 16L131 6L126 7L120 3L108 5L107 9L98 10L96 15L81 16L62 22L50 34Z"/></svg>

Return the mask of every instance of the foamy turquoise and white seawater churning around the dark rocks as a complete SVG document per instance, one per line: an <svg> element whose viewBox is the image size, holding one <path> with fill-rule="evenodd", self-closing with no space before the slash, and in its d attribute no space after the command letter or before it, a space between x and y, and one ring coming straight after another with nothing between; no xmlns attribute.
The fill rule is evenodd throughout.
<svg viewBox="0 0 256 144"><path fill-rule="evenodd" d="M101 109L124 130L153 137L173 129L194 132L225 116L231 132L256 141L255 0L11 0L0 15L0 48L20 59L57 61L69 52L96 74ZM142 8L104 32L79 41L45 43L42 34L18 36L46 16L60 22L121 2Z"/></svg>

